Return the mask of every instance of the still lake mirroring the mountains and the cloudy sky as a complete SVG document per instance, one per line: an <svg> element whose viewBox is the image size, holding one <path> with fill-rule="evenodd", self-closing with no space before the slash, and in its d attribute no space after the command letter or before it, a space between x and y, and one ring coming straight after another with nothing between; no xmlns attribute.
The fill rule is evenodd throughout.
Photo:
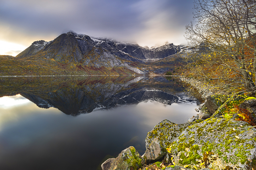
<svg viewBox="0 0 256 170"><path fill-rule="evenodd" d="M162 120L187 122L198 99L178 77L0 78L0 169L101 169Z"/></svg>

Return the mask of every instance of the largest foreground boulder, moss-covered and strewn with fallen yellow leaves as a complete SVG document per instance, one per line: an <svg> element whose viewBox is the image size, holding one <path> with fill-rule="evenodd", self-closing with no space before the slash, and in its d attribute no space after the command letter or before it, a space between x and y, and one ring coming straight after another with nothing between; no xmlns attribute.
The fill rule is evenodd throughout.
<svg viewBox="0 0 256 170"><path fill-rule="evenodd" d="M161 130L171 132L173 128L162 126ZM256 129L246 122L211 117L187 126L176 139L162 135L167 135L164 142L172 146L175 165L256 169Z"/></svg>

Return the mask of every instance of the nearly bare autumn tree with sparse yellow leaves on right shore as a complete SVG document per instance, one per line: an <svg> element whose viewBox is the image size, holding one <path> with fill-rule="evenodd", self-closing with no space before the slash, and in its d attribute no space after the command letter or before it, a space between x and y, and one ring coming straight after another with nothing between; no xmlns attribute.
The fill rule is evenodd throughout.
<svg viewBox="0 0 256 170"><path fill-rule="evenodd" d="M186 25L185 37L205 52L190 59L191 70L205 80L255 93L256 1L198 0L194 9L196 24Z"/></svg>

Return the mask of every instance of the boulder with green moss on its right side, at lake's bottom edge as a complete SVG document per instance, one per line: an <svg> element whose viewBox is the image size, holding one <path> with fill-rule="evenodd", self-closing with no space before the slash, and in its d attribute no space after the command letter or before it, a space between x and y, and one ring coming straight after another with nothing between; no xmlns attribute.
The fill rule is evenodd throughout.
<svg viewBox="0 0 256 170"><path fill-rule="evenodd" d="M111 164L110 170L138 170L142 167L142 157L130 146L123 150Z"/></svg>

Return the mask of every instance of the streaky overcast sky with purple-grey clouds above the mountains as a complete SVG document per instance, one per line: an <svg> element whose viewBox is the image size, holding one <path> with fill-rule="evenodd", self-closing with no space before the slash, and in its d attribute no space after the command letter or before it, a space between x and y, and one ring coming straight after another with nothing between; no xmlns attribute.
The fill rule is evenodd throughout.
<svg viewBox="0 0 256 170"><path fill-rule="evenodd" d="M0 55L70 30L154 46L185 44L193 0L0 0Z"/></svg>

